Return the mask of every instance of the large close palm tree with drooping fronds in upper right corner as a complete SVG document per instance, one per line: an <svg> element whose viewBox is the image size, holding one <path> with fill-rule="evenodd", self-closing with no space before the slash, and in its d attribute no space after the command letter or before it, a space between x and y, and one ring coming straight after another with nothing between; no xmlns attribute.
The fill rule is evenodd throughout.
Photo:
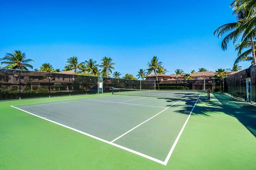
<svg viewBox="0 0 256 170"><path fill-rule="evenodd" d="M256 30L254 29L256 23L254 22L254 24L252 24L252 20L255 18L256 7L255 4L249 8L248 6L245 7L246 2L248 1L252 0L235 0L230 6L233 7L233 14L236 15L238 21L234 23L227 23L218 27L213 34L218 34L218 38L220 38L223 34L228 33L228 35L226 35L226 37L224 37L222 40L221 47L224 51L227 49L227 44L230 40L233 39L233 44L235 44L238 39L241 39L241 42L237 47L238 57L242 54L242 50L248 48L248 45L250 45L252 49L252 59L255 65L256 57L254 38Z"/></svg>

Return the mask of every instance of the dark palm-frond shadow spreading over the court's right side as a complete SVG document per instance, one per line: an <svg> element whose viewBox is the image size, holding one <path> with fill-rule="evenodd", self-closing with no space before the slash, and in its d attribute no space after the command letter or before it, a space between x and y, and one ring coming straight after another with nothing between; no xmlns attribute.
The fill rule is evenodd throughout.
<svg viewBox="0 0 256 170"><path fill-rule="evenodd" d="M162 98L166 102L178 102L178 98ZM184 98L182 101L186 102L185 104L179 104L172 107L180 107L175 111L175 113L190 114L195 102L196 96L190 96ZM171 106L171 105L167 105ZM225 94L213 93L213 97L210 101L206 100L205 97L198 100L196 105L196 111L192 112L192 115L204 115L211 116L212 114L218 114L224 112L230 116L236 117L255 137L256 137L256 107L246 103L236 100Z"/></svg>

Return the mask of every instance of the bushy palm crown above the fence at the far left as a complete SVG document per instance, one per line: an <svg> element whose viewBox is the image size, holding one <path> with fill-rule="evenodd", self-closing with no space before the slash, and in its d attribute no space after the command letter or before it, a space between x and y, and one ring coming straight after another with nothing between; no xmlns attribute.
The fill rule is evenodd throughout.
<svg viewBox="0 0 256 170"><path fill-rule="evenodd" d="M12 53L6 53L1 61L1 64L7 64L4 68L18 70L28 70L28 68L33 69L33 66L27 63L34 63L32 59L26 59L25 53L17 50Z"/></svg>

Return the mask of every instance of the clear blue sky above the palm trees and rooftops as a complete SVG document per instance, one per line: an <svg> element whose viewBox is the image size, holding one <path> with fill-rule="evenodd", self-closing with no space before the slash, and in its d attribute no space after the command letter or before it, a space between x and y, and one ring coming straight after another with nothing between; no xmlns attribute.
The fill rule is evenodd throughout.
<svg viewBox="0 0 256 170"><path fill-rule="evenodd" d="M214 30L235 22L233 0L3 0L0 58L21 50L34 68L64 69L69 57L83 62L111 57L115 70L136 76L155 55L172 74L204 67L232 68L232 43L222 51ZM250 62L239 64L243 69ZM113 72L114 72L113 71Z"/></svg>

